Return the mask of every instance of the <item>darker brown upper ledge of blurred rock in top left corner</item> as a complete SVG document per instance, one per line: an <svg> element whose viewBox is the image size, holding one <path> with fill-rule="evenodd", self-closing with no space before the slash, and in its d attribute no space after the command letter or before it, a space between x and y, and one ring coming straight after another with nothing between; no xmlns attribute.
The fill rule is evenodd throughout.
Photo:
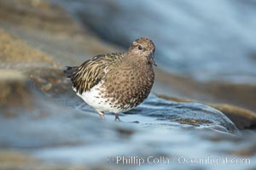
<svg viewBox="0 0 256 170"><path fill-rule="evenodd" d="M83 31L62 8L42 0L2 0L0 22L56 34L73 35Z"/></svg>

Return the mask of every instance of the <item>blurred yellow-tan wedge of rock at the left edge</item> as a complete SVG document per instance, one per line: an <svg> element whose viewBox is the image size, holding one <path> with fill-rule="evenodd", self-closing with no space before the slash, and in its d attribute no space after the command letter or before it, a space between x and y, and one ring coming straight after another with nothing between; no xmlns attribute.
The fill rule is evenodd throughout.
<svg viewBox="0 0 256 170"><path fill-rule="evenodd" d="M0 68L24 71L34 67L57 67L56 62L49 56L1 28L0 42Z"/></svg>

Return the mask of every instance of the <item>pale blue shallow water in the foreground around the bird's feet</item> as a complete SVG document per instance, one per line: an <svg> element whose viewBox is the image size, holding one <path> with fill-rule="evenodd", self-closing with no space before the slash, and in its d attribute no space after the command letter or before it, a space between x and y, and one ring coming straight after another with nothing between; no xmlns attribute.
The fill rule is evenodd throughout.
<svg viewBox="0 0 256 170"><path fill-rule="evenodd" d="M216 160L246 159L231 154L245 149L237 147L246 142L243 134L226 116L207 105L170 102L151 94L143 105L121 114L122 122L114 122L112 114L102 121L71 88L64 93L51 90L46 95L37 91L32 94L37 96L32 108L19 110L16 116L1 116L2 149L19 150L49 164L105 169L211 169L229 164ZM15 108L9 111L16 112ZM250 137L252 142L254 137ZM137 161L131 163L131 156ZM199 158L207 162L185 162ZM254 159L250 156L250 163L229 167L253 166ZM143 162L138 165L138 160Z"/></svg>

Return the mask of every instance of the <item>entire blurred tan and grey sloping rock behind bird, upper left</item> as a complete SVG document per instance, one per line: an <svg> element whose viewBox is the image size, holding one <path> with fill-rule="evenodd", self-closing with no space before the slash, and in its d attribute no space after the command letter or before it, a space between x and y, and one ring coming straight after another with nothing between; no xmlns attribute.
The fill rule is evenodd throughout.
<svg viewBox="0 0 256 170"><path fill-rule="evenodd" d="M117 51L49 1L3 0L0 8L2 68L60 68L79 65L95 54Z"/></svg>

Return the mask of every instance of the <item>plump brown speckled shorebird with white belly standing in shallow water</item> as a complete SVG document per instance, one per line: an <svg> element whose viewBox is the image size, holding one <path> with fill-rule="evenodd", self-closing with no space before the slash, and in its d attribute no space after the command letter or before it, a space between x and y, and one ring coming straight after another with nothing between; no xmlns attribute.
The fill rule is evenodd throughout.
<svg viewBox="0 0 256 170"><path fill-rule="evenodd" d="M102 119L112 112L130 111L148 98L154 84L154 42L139 37L126 52L99 54L65 73L75 93L93 107Z"/></svg>

